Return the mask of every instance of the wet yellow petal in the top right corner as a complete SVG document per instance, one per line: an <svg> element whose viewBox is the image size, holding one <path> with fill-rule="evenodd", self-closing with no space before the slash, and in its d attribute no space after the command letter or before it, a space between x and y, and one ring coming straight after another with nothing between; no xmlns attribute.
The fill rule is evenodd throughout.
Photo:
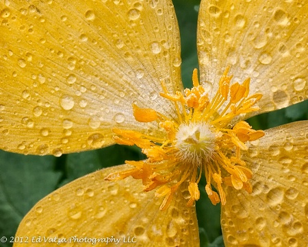
<svg viewBox="0 0 308 247"><path fill-rule="evenodd" d="M233 82L251 78L251 95L263 94L257 113L307 99L307 12L307 1L201 1L198 60L209 96L230 65Z"/></svg>

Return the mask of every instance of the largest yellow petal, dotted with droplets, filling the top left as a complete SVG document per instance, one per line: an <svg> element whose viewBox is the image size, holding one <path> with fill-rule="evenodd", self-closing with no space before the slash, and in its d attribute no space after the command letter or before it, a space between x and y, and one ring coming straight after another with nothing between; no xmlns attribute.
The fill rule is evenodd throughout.
<svg viewBox="0 0 308 247"><path fill-rule="evenodd" d="M143 126L133 102L175 115L155 100L161 80L182 89L171 1L1 1L0 12L1 149L60 156L110 145L112 128Z"/></svg>

